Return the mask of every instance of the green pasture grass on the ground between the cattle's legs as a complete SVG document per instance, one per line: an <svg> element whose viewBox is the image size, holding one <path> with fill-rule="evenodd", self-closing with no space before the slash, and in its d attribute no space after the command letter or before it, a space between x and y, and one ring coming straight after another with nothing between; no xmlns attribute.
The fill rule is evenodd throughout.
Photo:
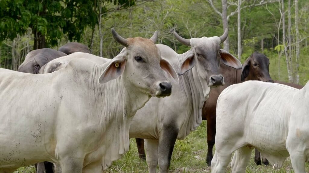
<svg viewBox="0 0 309 173"><path fill-rule="evenodd" d="M203 121L196 131L193 131L184 140L177 140L171 160L169 172L173 173L210 173L206 166L206 121ZM253 152L246 173L294 173L290 159L286 159L281 169L273 170L271 166L256 166L253 161ZM106 173L143 173L148 172L146 161L138 158L135 139L130 139L130 150L125 156L113 163ZM231 168L227 168L227 173ZM22 167L15 173L35 173L34 167ZM306 163L306 173L309 173L309 164Z"/></svg>

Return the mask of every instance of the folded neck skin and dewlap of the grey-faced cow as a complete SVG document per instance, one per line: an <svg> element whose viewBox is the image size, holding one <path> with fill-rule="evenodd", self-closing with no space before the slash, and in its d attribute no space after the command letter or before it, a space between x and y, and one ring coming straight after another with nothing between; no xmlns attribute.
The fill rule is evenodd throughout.
<svg viewBox="0 0 309 173"><path fill-rule="evenodd" d="M191 50L179 55L179 67L184 61L186 55L190 53L190 51ZM183 139L190 133L190 131L196 130L196 128L201 124L201 109L210 93L210 87L207 86L207 82L200 77L201 75L198 74L197 65L198 63L196 63L196 65L191 70L188 70L183 74L182 77L180 77L180 85L183 86L185 94L187 97L188 95L191 96L192 111L191 113L187 114L189 117L187 117L185 122L188 124L181 125L182 127L180 128L178 135L179 139Z"/></svg>

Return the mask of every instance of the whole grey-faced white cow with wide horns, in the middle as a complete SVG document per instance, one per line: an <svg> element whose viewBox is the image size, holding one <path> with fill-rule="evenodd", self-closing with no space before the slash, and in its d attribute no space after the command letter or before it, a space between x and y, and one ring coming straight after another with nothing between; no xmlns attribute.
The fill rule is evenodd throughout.
<svg viewBox="0 0 309 173"><path fill-rule="evenodd" d="M191 49L177 54L170 47L157 45L161 57L178 70L179 84L173 86L168 98L152 98L138 110L130 127L130 138L145 139L146 161L150 173L166 173L170 165L176 139L184 139L202 122L201 109L208 98L210 86L223 85L219 73L220 61L240 69L241 63L230 53L220 49L228 33L220 37L176 38ZM190 70L191 69L191 70ZM186 72L187 71L187 72ZM186 73L185 73L186 72Z"/></svg>

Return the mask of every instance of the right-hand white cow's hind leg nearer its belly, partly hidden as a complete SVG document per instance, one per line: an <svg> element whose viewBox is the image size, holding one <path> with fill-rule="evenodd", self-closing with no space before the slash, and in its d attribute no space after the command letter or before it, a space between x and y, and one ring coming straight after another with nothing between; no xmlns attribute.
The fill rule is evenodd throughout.
<svg viewBox="0 0 309 173"><path fill-rule="evenodd" d="M252 148L249 147L241 147L235 151L231 169L233 173L244 173L246 172L246 167L250 161L252 153Z"/></svg>

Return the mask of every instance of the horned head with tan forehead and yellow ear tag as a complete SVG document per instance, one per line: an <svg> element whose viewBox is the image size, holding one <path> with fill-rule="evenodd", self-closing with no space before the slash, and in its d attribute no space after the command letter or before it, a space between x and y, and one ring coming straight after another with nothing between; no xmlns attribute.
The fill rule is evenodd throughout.
<svg viewBox="0 0 309 173"><path fill-rule="evenodd" d="M105 83L122 75L133 92L156 97L171 95L171 82L178 83L179 79L174 68L161 58L160 50L155 46L158 32L150 39L122 38L114 29L112 35L125 48L112 59L99 82Z"/></svg>

